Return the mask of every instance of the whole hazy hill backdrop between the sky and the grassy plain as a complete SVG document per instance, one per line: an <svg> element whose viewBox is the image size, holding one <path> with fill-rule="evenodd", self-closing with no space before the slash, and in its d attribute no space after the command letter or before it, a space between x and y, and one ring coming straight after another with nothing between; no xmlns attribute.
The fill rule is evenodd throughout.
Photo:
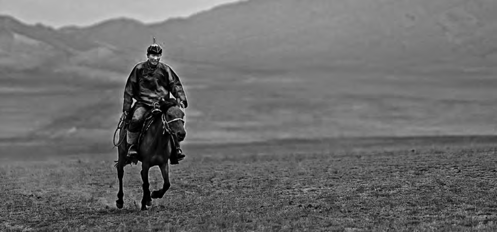
<svg viewBox="0 0 497 232"><path fill-rule="evenodd" d="M249 0L59 30L6 17L0 61L30 66L2 69L2 138L109 145L152 36L186 87L189 142L493 135L496 4Z"/></svg>

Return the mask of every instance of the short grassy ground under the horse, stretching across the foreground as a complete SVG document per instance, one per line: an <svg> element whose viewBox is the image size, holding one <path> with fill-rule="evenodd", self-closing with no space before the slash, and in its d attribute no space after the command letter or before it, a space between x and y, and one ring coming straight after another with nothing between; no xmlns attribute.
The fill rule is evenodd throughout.
<svg viewBox="0 0 497 232"><path fill-rule="evenodd" d="M137 166L125 169L116 209L115 154L9 159L0 164L0 231L497 229L493 143L344 141L187 147L148 211L139 210ZM151 190L162 186L157 167L150 180Z"/></svg>

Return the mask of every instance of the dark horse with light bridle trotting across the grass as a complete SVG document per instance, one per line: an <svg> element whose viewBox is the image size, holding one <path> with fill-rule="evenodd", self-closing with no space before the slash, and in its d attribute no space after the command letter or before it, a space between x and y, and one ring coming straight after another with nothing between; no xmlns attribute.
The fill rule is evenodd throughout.
<svg viewBox="0 0 497 232"><path fill-rule="evenodd" d="M141 210L147 210L147 206L152 206L152 198L162 198L167 189L171 186L169 183L169 165L167 160L172 154L176 140L183 140L186 136L184 129L184 112L179 108L174 99L161 100L153 110L153 121L145 125L138 143L138 161L142 162L142 181L143 181L143 198ZM147 124L147 123L146 123ZM116 206L123 208L123 176L124 166L131 163L128 160L126 143L126 130L121 129L119 138L123 142L118 146L119 159L116 161L117 177L119 178L119 192L117 193ZM136 161L135 161L136 162ZM164 178L162 189L150 193L149 190L149 169L153 166L159 166Z"/></svg>

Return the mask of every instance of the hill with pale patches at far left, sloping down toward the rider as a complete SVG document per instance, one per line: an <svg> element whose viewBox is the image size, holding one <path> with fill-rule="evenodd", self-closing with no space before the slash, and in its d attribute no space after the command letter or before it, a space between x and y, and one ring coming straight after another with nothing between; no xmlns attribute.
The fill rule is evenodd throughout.
<svg viewBox="0 0 497 232"><path fill-rule="evenodd" d="M63 33L41 24L27 25L0 16L0 67L6 71L42 69L45 72L83 66L120 71L134 62L115 47Z"/></svg>

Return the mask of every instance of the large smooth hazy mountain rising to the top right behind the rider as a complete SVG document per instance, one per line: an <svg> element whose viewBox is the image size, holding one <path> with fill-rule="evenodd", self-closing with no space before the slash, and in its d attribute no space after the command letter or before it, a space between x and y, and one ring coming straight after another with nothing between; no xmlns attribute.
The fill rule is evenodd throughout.
<svg viewBox="0 0 497 232"><path fill-rule="evenodd" d="M491 0L249 0L72 33L136 50L157 36L173 59L248 70L454 68L495 61L496 7Z"/></svg>

